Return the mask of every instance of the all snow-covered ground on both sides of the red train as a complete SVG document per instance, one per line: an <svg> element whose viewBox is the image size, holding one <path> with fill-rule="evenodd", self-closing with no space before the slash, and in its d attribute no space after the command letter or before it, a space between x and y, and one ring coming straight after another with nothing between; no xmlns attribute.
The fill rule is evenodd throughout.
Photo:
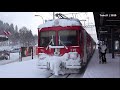
<svg viewBox="0 0 120 90"><path fill-rule="evenodd" d="M75 74L68 78L120 78L120 56L115 56L115 59L112 59L111 54L106 56L107 64L99 64L96 50L84 75ZM48 78L51 75L50 71L38 69L38 57L34 56L33 58L31 56L24 57L21 62L0 65L0 78Z"/></svg>

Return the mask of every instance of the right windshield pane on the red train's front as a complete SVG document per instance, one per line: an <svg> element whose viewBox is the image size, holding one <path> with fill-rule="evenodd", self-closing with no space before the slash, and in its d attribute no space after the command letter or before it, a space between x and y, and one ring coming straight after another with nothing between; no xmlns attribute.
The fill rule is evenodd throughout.
<svg viewBox="0 0 120 90"><path fill-rule="evenodd" d="M59 46L77 46L78 31L77 30L62 30L58 32Z"/></svg>

